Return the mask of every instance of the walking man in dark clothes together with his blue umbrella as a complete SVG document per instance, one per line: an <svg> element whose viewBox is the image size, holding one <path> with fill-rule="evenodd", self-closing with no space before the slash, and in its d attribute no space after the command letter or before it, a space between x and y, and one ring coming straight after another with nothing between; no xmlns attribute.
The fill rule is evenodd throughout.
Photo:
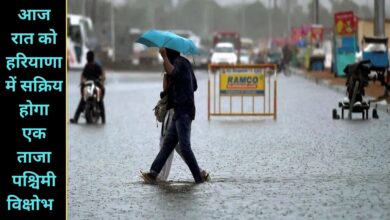
<svg viewBox="0 0 390 220"><path fill-rule="evenodd" d="M195 119L194 92L198 84L191 63L180 56L180 53L197 54L198 49L189 39L172 32L154 29L146 31L136 42L148 47L160 48L164 70L171 84L168 102L174 109L172 123L167 128L160 152L153 161L150 171L141 172L142 177L148 183L155 183L167 158L179 143L181 156L189 167L195 183L202 183L205 178L199 170L190 140L191 123Z"/></svg>

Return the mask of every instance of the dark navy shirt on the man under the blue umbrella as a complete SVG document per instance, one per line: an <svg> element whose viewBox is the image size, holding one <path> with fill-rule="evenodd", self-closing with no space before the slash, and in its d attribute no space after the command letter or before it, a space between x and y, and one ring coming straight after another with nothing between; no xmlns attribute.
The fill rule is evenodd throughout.
<svg viewBox="0 0 390 220"><path fill-rule="evenodd" d="M170 76L168 89L169 105L174 108L173 120L182 114L195 119L194 91L198 84L191 63L184 57L177 57L173 62L174 69Z"/></svg>

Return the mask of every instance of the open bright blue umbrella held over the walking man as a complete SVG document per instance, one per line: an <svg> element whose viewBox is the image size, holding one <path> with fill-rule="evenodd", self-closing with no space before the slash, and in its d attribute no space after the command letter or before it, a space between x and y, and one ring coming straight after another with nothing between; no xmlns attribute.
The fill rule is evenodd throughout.
<svg viewBox="0 0 390 220"><path fill-rule="evenodd" d="M151 29L143 33L136 42L147 47L169 48L185 55L199 54L199 50L192 40L169 31Z"/></svg>

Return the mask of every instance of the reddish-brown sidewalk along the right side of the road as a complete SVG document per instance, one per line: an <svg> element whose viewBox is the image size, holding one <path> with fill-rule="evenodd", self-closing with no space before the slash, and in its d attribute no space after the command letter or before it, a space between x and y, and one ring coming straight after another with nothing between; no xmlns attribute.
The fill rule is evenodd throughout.
<svg viewBox="0 0 390 220"><path fill-rule="evenodd" d="M305 79L309 79L310 81L315 82L316 84L323 85L329 87L339 93L342 93L344 96L346 95L346 78L345 77L335 77L330 70L324 71L307 71L304 69L297 69L290 67L292 72L298 76L301 76ZM365 88L366 99L376 99L384 94L384 88L381 86L379 81L369 82L369 85ZM340 97L340 100L343 97ZM386 100L377 103L377 108L384 112L390 113L390 97Z"/></svg>

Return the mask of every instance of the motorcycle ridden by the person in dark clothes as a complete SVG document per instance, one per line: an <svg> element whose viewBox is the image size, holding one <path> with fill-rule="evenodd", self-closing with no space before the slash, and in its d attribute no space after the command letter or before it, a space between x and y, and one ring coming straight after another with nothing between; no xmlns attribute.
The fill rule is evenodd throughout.
<svg viewBox="0 0 390 220"><path fill-rule="evenodd" d="M84 116L88 124L96 124L102 116L100 101L102 90L98 86L99 80L87 80L83 83L83 99L85 102Z"/></svg>

